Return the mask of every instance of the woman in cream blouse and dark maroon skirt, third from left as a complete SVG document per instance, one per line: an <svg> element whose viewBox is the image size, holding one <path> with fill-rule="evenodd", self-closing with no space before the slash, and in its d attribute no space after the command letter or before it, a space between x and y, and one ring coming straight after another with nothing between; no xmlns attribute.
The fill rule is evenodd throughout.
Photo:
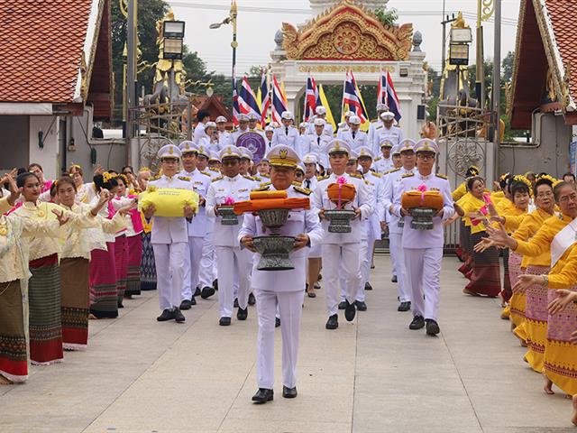
<svg viewBox="0 0 577 433"><path fill-rule="evenodd" d="M60 292L62 311L62 341L65 349L84 349L88 341L88 311L90 308L89 275L90 251L101 233L116 233L125 226L124 215L128 209L122 209L112 220L98 216L98 212L108 204L107 190L100 192L100 199L94 206L76 203L76 182L63 177L57 182L57 198L60 206L74 214L94 216L91 227L77 229L74 224L62 228L64 232L62 251L60 252Z"/></svg>

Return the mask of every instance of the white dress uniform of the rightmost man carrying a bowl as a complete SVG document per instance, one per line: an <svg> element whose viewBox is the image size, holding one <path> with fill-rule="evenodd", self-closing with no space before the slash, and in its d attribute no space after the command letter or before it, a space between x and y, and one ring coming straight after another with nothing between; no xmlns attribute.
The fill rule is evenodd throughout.
<svg viewBox="0 0 577 433"><path fill-rule="evenodd" d="M422 141L421 141L422 142ZM417 151L419 143L417 143ZM411 217L405 217L403 250L407 267L407 283L411 290L413 316L436 321L441 288L441 262L443 260L443 221L453 217L454 207L449 181L435 173L423 176L407 174L401 178L395 197L393 212L400 215L401 196L408 190L425 185L427 190L439 190L444 198L443 217L434 217L432 230L411 228Z"/></svg>

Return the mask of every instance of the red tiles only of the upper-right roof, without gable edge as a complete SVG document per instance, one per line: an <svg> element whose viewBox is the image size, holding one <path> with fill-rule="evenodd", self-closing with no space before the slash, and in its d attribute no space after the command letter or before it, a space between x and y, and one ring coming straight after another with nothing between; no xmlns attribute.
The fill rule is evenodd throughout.
<svg viewBox="0 0 577 433"><path fill-rule="evenodd" d="M577 98L577 5L575 0L546 0L563 66L570 65L570 91Z"/></svg>

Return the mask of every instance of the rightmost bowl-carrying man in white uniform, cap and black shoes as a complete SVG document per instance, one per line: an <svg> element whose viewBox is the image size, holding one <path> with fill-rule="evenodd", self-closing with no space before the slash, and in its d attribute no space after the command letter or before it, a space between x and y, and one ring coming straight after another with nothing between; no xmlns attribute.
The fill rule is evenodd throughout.
<svg viewBox="0 0 577 433"><path fill-rule="evenodd" d="M393 212L405 217L403 228L403 250L407 266L407 282L411 290L413 321L409 329L421 329L426 326L426 334L436 336L439 332L437 312L441 290L441 262L443 260L444 228L443 221L453 217L454 207L451 186L446 177L435 174L435 156L438 147L428 138L419 140L415 145L417 153L417 174L403 176L398 186ZM438 190L443 195L444 206L433 218L432 230L417 230L411 227L412 217L408 210L401 207L402 193L421 186L426 190Z"/></svg>

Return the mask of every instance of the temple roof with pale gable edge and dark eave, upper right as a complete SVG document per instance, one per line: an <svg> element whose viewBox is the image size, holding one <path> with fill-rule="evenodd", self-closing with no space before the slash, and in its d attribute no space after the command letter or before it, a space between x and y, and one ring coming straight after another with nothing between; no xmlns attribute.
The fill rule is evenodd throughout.
<svg viewBox="0 0 577 433"><path fill-rule="evenodd" d="M532 113L561 110L577 124L577 8L573 0L521 0L511 83L511 125L531 127Z"/></svg>

